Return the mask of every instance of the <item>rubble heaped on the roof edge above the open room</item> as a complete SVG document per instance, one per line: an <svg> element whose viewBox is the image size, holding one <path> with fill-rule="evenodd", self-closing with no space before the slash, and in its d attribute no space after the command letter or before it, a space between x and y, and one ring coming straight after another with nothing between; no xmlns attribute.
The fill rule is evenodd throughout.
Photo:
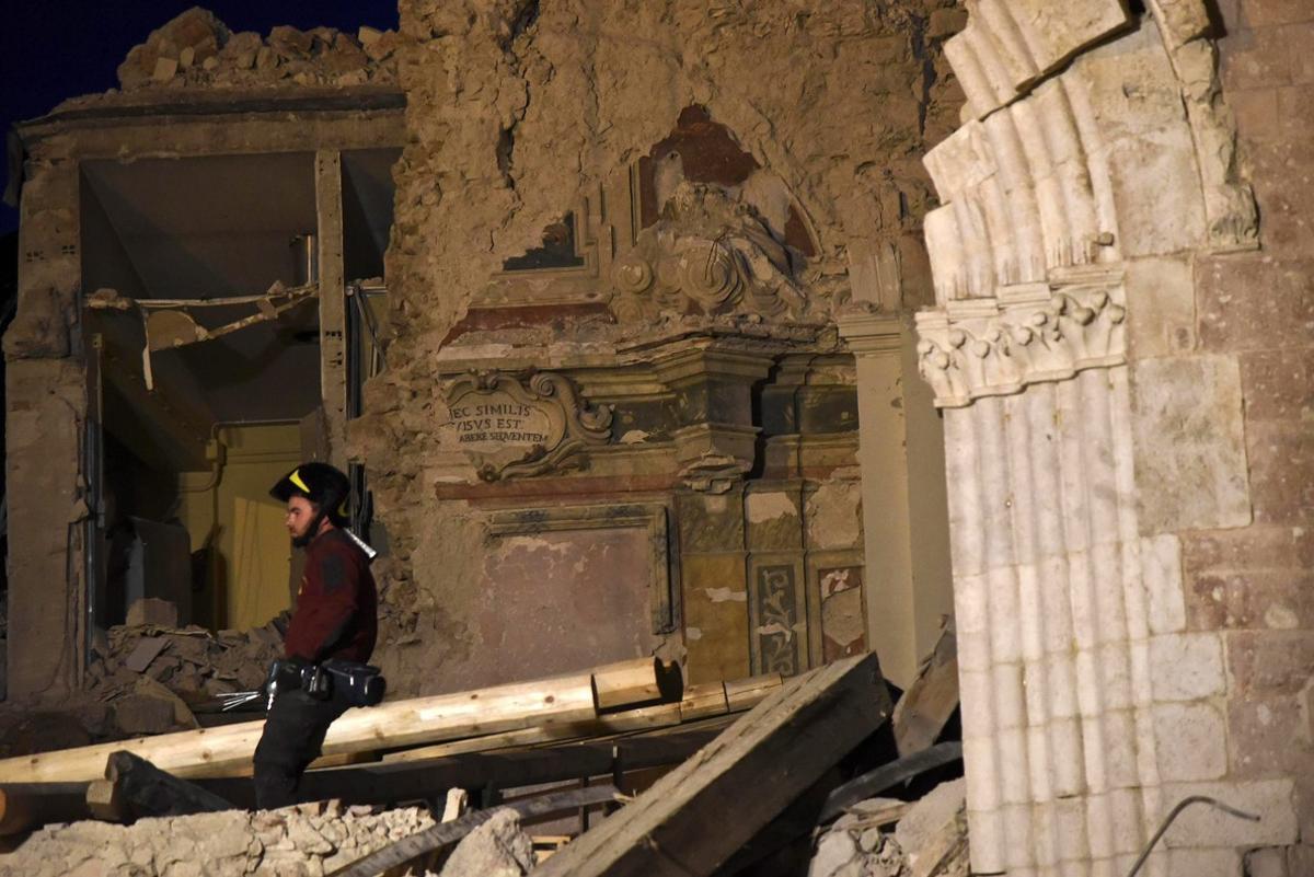
<svg viewBox="0 0 1314 877"><path fill-rule="evenodd" d="M297 30L279 26L261 38L230 33L208 9L193 7L146 42L134 46L118 67L125 92L160 87L251 88L297 85L390 85L401 37L393 30L361 28L356 35L332 28Z"/></svg>

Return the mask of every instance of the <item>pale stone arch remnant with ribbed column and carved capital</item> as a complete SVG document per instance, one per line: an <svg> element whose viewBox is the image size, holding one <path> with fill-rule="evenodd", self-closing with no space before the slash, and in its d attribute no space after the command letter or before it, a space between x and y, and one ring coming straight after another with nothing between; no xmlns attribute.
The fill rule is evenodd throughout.
<svg viewBox="0 0 1314 877"><path fill-rule="evenodd" d="M946 45L967 105L926 156L917 352L979 873L1127 873L1201 792L1264 827L1185 818L1150 873L1296 839L1290 777L1229 760L1225 641L1188 629L1179 541L1251 521L1236 362L1194 348L1190 267L1255 248L1256 213L1204 3L1148 7L980 0Z"/></svg>

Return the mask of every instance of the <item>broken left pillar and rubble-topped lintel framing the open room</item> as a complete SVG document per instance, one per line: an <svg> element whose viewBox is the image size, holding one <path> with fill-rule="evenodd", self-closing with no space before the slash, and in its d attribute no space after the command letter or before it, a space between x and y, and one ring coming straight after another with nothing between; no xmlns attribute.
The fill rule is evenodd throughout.
<svg viewBox="0 0 1314 877"><path fill-rule="evenodd" d="M21 122L25 150L20 203L17 314L5 333L8 362L9 693L59 698L83 674L88 588L83 542L93 513L85 473L89 335L79 315L83 260L80 164L139 158L373 148L399 140L393 32L276 29L268 37L234 34L204 9L191 9L154 32L120 68L121 89L88 95ZM271 110L234 122L225 113L250 98L360 100L361 110L298 116ZM214 116L173 116L176 104L213 108ZM143 113L154 109L155 114ZM104 225L104 223L101 223ZM96 230L93 230L96 231ZM100 228L99 232L104 232ZM135 291L135 290L122 290ZM138 352L116 362L139 399ZM135 368L135 372L134 372ZM173 399L177 403L177 399ZM184 400L187 402L187 400ZM185 429L189 406L156 407L164 429ZM160 415L160 412L164 412ZM193 429L204 441L205 424ZM201 465L197 465L200 469ZM57 587L62 583L62 587Z"/></svg>

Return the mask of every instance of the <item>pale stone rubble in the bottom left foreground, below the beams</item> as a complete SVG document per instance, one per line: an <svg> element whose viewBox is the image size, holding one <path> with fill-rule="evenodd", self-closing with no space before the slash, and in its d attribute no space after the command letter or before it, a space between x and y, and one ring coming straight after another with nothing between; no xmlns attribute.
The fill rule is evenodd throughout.
<svg viewBox="0 0 1314 877"><path fill-rule="evenodd" d="M131 826L75 822L41 828L0 855L0 877L323 877L432 824L424 807L382 810L336 801L139 819ZM502 810L451 851L440 877L520 877L533 861L519 817ZM388 873L439 877L430 868L435 861Z"/></svg>

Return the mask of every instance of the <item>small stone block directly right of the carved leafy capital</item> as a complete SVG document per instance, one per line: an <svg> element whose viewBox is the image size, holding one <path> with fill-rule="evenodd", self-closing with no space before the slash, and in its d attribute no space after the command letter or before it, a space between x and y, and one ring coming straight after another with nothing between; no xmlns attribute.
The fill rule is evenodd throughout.
<svg viewBox="0 0 1314 877"><path fill-rule="evenodd" d="M1131 259L1123 286L1133 356L1173 356L1196 345L1196 281L1189 259Z"/></svg>

